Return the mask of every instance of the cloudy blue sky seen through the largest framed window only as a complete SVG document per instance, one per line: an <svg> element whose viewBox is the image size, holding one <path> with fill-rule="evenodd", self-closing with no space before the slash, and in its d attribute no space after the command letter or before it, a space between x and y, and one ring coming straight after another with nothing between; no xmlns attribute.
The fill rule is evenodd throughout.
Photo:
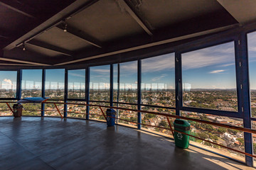
<svg viewBox="0 0 256 170"><path fill-rule="evenodd" d="M234 42L181 55L183 88L235 89Z"/></svg>

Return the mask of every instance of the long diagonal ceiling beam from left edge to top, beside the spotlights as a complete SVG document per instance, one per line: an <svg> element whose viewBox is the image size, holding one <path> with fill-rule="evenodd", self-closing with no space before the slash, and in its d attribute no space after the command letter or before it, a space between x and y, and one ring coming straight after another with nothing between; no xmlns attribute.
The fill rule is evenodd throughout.
<svg viewBox="0 0 256 170"><path fill-rule="evenodd" d="M41 23L41 25L37 26L33 30L29 31L25 35L23 35L21 38L18 38L17 40L14 40L14 42L11 42L11 44L4 47L4 50L12 50L17 45L20 45L23 42L28 42L32 40L33 38L36 38L36 36L40 35L46 30L50 30L50 28L53 28L55 26L58 26L60 23L63 23L63 20L66 18L70 18L74 16L75 14L79 13L80 11L84 10L85 8L88 8L89 6L92 6L92 4L95 4L99 0L77 0L67 8L63 9L63 11L60 11L60 13L55 14L55 16L49 18L44 23Z"/></svg>

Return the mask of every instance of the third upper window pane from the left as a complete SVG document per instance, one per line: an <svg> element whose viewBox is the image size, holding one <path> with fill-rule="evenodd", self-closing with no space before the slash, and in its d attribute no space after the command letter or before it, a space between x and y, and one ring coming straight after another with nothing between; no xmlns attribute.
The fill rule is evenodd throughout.
<svg viewBox="0 0 256 170"><path fill-rule="evenodd" d="M65 69L46 69L46 97L64 99Z"/></svg>

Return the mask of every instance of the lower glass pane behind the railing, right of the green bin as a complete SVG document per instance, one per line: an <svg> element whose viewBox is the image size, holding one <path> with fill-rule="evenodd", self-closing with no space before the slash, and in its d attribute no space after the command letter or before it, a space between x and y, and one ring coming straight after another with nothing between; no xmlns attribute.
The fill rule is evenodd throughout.
<svg viewBox="0 0 256 170"><path fill-rule="evenodd" d="M220 115L181 111L181 116L238 127L242 127L243 125L242 119L240 118L231 118ZM191 124L190 135L203 139L200 140L196 137L189 137L190 144L196 145L203 149L208 149L212 152L216 152L227 157L231 157L233 159L237 159L240 162L245 162L244 154L240 154L239 152L235 152L233 150L210 143L215 142L219 145L245 152L244 132L230 128L223 128L218 125L209 125L206 123L198 123L194 121L188 122ZM206 142L204 140L208 140L210 142Z"/></svg>

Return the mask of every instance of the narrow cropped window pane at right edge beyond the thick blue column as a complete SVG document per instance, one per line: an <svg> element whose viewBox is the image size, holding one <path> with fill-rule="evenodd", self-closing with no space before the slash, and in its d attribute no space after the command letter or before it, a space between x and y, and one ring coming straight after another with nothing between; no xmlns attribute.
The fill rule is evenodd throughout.
<svg viewBox="0 0 256 170"><path fill-rule="evenodd" d="M256 116L256 32L247 34L252 116Z"/></svg>

